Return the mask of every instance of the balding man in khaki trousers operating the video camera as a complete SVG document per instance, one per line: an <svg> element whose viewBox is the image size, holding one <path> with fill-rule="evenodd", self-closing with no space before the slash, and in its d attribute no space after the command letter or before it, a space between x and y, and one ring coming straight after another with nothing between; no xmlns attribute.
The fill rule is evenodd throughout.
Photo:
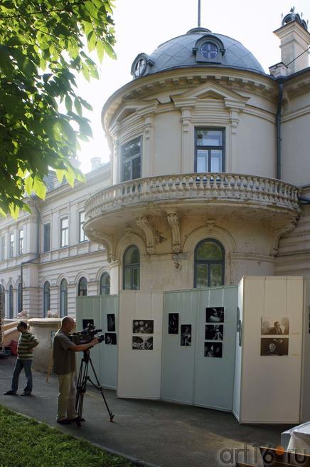
<svg viewBox="0 0 310 467"><path fill-rule="evenodd" d="M58 424L68 425L71 421L77 420L75 410L75 352L90 349L99 341L97 338L87 344L74 344L69 333L73 330L74 320L71 317L64 317L61 320L61 327L56 332L53 342L53 371L58 376Z"/></svg>

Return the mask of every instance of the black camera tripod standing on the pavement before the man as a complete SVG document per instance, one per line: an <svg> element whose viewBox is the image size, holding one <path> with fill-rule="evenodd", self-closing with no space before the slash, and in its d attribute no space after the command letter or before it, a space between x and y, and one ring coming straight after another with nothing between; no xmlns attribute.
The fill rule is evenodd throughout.
<svg viewBox="0 0 310 467"><path fill-rule="evenodd" d="M92 367L92 371L95 375L97 384L95 384L90 379L90 376L88 376L88 364L90 364L90 366ZM92 359L90 358L90 350L87 349L83 351L83 358L80 364L79 376L77 378L77 394L76 394L76 399L75 399L75 410L77 411L77 426L81 426L80 422L82 421L83 401L84 401L84 394L86 392L87 381L90 381L92 386L94 386L98 391L101 392L102 399L105 401L105 406L107 407L107 411L109 413L109 421L113 421L114 414L112 414L112 411L109 410L109 406L107 405L107 400L105 399L105 394L103 394L102 386L100 382L98 381L95 368L92 364Z"/></svg>

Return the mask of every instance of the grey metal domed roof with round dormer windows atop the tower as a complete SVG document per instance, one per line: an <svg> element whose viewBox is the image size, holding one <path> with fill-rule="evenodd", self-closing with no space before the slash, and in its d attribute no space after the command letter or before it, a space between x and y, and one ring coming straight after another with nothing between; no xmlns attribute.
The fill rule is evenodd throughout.
<svg viewBox="0 0 310 467"><path fill-rule="evenodd" d="M242 43L199 27L162 43L151 55L140 53L132 63L132 75L139 78L175 68L210 65L264 73Z"/></svg>

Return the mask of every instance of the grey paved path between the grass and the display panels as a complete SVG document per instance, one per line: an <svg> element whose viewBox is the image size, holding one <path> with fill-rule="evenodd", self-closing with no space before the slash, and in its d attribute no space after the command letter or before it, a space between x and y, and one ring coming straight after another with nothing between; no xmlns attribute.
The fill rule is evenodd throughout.
<svg viewBox="0 0 310 467"><path fill-rule="evenodd" d="M55 422L58 384L55 376L33 372L33 396L4 396L11 388L14 357L0 359L0 404L21 414L44 421L65 433L97 443L126 456L161 467L213 467L234 465L221 463L223 449L244 448L253 443L266 446L280 443L280 433L288 426L239 425L232 414L161 401L117 399L114 391L105 391L114 423L99 392L87 389L81 428L75 424L61 426ZM20 379L21 394L25 378ZM253 463L253 449L247 461ZM230 456L226 451L225 456ZM259 456L258 456L259 457ZM227 457L225 457L227 459ZM242 453L239 461L245 461Z"/></svg>

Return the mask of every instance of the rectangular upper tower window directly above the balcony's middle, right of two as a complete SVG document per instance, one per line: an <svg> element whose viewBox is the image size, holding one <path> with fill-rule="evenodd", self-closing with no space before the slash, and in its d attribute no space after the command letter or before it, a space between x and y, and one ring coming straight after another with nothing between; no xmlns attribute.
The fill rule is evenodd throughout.
<svg viewBox="0 0 310 467"><path fill-rule="evenodd" d="M224 172L224 130L196 128L195 172Z"/></svg>

